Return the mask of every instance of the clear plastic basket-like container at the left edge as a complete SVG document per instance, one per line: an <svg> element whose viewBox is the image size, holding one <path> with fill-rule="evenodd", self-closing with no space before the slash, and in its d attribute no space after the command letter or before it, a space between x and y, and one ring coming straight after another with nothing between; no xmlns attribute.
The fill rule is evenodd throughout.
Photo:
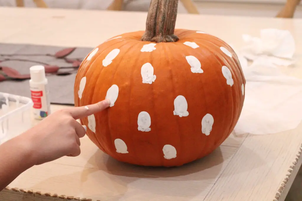
<svg viewBox="0 0 302 201"><path fill-rule="evenodd" d="M31 128L30 98L0 92L0 144Z"/></svg>

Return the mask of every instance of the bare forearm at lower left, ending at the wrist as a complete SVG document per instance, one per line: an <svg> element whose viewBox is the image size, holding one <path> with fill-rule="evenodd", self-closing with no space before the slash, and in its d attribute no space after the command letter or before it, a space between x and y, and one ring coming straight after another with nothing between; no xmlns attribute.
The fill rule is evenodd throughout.
<svg viewBox="0 0 302 201"><path fill-rule="evenodd" d="M28 141L21 134L0 145L0 191L34 165Z"/></svg>

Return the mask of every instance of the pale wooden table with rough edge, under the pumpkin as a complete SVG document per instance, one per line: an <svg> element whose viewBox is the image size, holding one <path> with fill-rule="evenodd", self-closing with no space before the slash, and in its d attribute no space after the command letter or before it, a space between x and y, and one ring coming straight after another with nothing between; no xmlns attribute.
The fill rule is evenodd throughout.
<svg viewBox="0 0 302 201"><path fill-rule="evenodd" d="M145 19L146 13L137 12L0 8L0 42L95 47L117 34L144 29ZM235 47L242 45L243 33L288 29L296 39L296 67L302 64L302 19L179 14L176 27L206 31ZM284 71L302 78L301 68ZM63 107L52 105L52 110ZM79 157L25 171L0 200L61 200L62 195L101 201L281 201L302 162L301 132L302 124L264 136L231 134L204 159L172 169L117 162L84 137Z"/></svg>

